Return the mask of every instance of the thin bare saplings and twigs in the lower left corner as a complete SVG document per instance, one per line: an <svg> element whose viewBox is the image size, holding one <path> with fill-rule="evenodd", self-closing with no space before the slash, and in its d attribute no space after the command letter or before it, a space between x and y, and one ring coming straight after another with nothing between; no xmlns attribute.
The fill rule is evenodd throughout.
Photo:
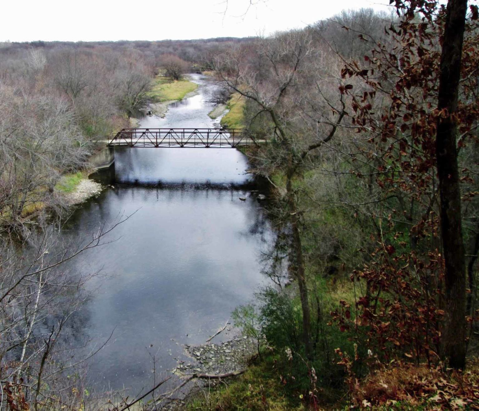
<svg viewBox="0 0 479 411"><path fill-rule="evenodd" d="M0 247L0 359L2 383L9 387L12 409L61 407L65 401L81 402L80 373L85 358L71 347L72 320L88 297L85 284L91 276L67 269L66 263L82 252L109 243L107 236L117 224L102 225L91 238L76 244L58 241L61 226L39 220L41 230L24 230L18 238L3 238ZM56 228L56 229L54 229ZM84 343L77 335L78 348ZM81 374L84 374L81 372ZM19 383L19 381L21 381ZM10 395L10 394L9 394ZM25 407L23 407L23 405ZM17 406L18 408L14 408Z"/></svg>

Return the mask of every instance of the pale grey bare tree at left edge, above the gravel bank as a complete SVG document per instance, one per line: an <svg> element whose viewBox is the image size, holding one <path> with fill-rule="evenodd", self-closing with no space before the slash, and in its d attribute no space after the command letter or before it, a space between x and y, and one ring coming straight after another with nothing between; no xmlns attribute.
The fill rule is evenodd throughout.
<svg viewBox="0 0 479 411"><path fill-rule="evenodd" d="M59 98L0 85L0 225L21 224L25 212L54 206L58 170L75 171L91 144Z"/></svg>

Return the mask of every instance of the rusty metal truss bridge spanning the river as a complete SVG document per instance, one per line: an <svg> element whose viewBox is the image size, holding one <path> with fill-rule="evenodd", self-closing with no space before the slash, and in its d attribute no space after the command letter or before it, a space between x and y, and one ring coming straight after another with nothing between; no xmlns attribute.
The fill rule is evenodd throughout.
<svg viewBox="0 0 479 411"><path fill-rule="evenodd" d="M236 148L256 145L241 129L123 129L108 146Z"/></svg>

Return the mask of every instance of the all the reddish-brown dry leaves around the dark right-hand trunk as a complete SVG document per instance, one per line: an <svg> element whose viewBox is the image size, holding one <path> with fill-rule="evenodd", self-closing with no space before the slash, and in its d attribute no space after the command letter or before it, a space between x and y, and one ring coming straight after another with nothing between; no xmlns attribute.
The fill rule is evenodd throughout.
<svg viewBox="0 0 479 411"><path fill-rule="evenodd" d="M408 2L396 3L401 9ZM422 7L420 20L411 13L414 7ZM432 364L440 358L447 308L436 169L437 124L450 116L436 108L446 10L434 1L411 2L411 8L403 9L402 21L385 29L391 45L377 43L364 57L366 67L353 61L342 69L343 78L362 78L368 87L358 93L346 85L340 91L352 98L356 131L370 136L362 158L375 171L378 188L397 198L399 206L391 209L387 224L376 223L371 234L376 249L368 252L370 262L352 275L355 285L366 285L365 295L354 307L343 304L333 315L342 330L356 332L363 349L378 350L374 354L381 360L409 357ZM459 148L476 138L477 29L472 14L454 114ZM467 169L461 177L472 181Z"/></svg>

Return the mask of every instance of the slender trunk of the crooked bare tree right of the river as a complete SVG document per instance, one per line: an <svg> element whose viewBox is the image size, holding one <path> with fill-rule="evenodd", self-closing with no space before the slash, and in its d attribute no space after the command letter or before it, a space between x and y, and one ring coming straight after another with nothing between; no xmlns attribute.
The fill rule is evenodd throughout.
<svg viewBox="0 0 479 411"><path fill-rule="evenodd" d="M293 259L291 263L293 264L293 270L298 281L299 297L301 299L301 309L303 311L303 340L306 350L306 357L308 359L312 359L313 349L311 344L311 314L309 312L308 287L306 285L303 249L299 233L299 219L297 215L296 199L294 198L292 186L293 177L294 168L290 163L286 173L286 195L293 237L291 245Z"/></svg>

